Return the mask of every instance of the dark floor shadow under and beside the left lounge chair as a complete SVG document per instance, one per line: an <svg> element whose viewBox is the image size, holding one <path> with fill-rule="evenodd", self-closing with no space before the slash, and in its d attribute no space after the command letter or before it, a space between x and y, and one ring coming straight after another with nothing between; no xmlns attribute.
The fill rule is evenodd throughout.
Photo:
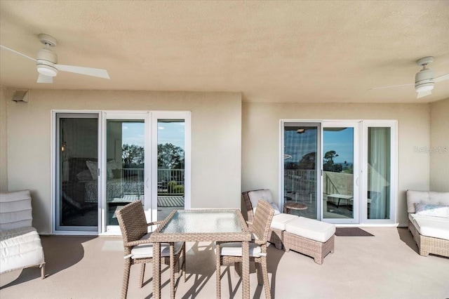
<svg viewBox="0 0 449 299"><path fill-rule="evenodd" d="M46 261L46 277L79 263L84 256L82 244L94 238L96 237L41 236L43 254L45 255ZM18 277L13 276L15 273L18 274ZM30 267L24 270L16 270L9 274L2 274L2 276L6 275L8 275L9 281L13 280L11 282L6 282L7 279L2 277L0 290L2 288L7 288L8 286L22 284L23 282L32 279L40 279L41 270L39 267ZM6 284L4 285L4 283Z"/></svg>

